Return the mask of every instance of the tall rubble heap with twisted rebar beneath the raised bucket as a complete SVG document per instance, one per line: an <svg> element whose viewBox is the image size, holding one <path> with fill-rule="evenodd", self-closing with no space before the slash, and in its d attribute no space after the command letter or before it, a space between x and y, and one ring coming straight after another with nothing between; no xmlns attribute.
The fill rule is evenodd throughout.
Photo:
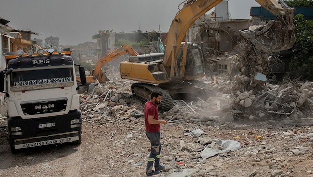
<svg viewBox="0 0 313 177"><path fill-rule="evenodd" d="M240 45L240 55L229 57L232 71L237 72L214 77L218 90L232 98L232 112L251 120L265 117L310 118L313 113L313 82L285 79L280 84L270 84L266 75L270 61L276 58L248 43Z"/></svg>

